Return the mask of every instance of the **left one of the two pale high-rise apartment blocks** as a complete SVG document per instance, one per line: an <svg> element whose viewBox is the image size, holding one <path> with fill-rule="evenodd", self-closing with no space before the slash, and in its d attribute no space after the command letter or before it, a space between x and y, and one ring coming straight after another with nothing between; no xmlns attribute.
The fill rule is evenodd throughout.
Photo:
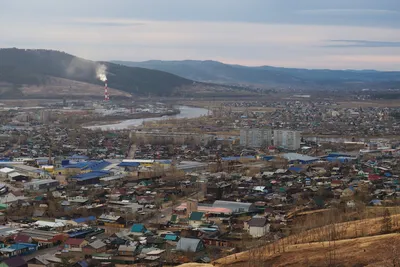
<svg viewBox="0 0 400 267"><path fill-rule="evenodd" d="M272 130L250 128L240 130L240 145L244 147L262 147L272 144Z"/></svg>

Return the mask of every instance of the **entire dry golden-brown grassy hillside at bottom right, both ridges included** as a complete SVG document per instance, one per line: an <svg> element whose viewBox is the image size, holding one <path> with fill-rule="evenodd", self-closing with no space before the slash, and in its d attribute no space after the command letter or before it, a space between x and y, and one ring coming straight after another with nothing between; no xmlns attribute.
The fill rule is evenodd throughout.
<svg viewBox="0 0 400 267"><path fill-rule="evenodd" d="M380 211L378 211L380 213ZM400 215L392 215L400 230ZM400 244L400 234L381 235L382 217L311 229L242 253L216 260L216 266L384 266ZM330 241L335 240L335 241ZM400 250L400 245L396 251ZM331 264L331 265L330 265ZM336 265L334 265L336 266Z"/></svg>

